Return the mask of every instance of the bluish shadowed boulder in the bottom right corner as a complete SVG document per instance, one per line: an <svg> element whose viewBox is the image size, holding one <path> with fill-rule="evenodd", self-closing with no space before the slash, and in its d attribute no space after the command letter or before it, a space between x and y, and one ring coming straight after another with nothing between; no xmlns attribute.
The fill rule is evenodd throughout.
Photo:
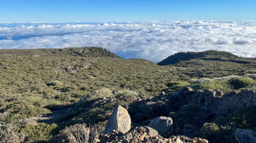
<svg viewBox="0 0 256 143"><path fill-rule="evenodd" d="M252 130L237 128L235 138L238 143L256 143L256 134Z"/></svg>

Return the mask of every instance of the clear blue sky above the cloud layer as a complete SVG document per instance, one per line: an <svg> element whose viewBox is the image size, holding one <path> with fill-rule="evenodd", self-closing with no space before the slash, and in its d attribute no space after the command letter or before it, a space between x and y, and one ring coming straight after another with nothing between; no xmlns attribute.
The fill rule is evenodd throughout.
<svg viewBox="0 0 256 143"><path fill-rule="evenodd" d="M255 0L0 0L0 22L256 20Z"/></svg>

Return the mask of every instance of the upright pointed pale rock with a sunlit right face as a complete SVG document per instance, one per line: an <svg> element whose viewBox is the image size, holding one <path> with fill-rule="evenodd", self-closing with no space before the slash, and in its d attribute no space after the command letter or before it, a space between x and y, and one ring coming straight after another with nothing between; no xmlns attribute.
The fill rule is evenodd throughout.
<svg viewBox="0 0 256 143"><path fill-rule="evenodd" d="M113 130L121 131L123 134L127 133L131 128L131 117L127 109L118 106L114 109L111 117L105 126L105 133L111 133Z"/></svg>

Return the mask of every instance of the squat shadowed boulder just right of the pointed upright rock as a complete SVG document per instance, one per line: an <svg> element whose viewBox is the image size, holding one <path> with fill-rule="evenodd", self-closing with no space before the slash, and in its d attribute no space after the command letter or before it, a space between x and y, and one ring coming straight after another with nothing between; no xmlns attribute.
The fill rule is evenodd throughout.
<svg viewBox="0 0 256 143"><path fill-rule="evenodd" d="M173 120L171 117L156 117L148 124L154 128L162 137L169 137L173 132Z"/></svg>

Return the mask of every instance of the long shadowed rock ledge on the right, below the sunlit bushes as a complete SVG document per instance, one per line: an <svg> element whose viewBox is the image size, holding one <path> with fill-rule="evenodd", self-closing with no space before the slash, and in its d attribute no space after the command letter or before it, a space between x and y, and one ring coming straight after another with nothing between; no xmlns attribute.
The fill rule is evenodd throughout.
<svg viewBox="0 0 256 143"><path fill-rule="evenodd" d="M182 88L176 93L167 93L170 96L168 104L170 110L176 111L183 105L194 104L209 112L227 115L237 107L256 105L256 93L253 90L241 90L240 93L230 92L223 95L222 90L194 90Z"/></svg>

